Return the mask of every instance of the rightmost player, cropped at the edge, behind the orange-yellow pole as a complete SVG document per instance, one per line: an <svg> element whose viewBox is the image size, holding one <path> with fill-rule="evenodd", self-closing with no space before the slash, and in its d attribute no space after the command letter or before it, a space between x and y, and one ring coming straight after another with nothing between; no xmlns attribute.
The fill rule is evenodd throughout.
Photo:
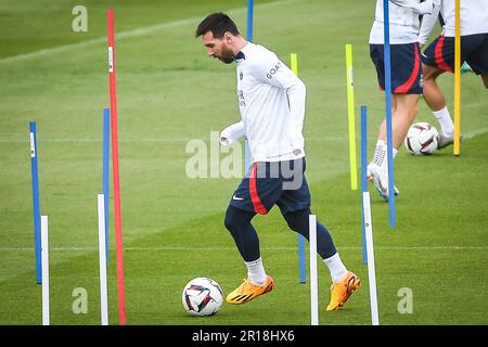
<svg viewBox="0 0 488 347"><path fill-rule="evenodd" d="M461 2L461 64L467 63L476 75L481 75L488 88L488 0L468 0ZM419 42L428 40L437 16L442 16L442 33L422 54L424 70L424 99L439 121L438 149L454 142L452 125L446 99L437 85L441 74L454 72L455 1L440 0L432 15L424 16Z"/></svg>

